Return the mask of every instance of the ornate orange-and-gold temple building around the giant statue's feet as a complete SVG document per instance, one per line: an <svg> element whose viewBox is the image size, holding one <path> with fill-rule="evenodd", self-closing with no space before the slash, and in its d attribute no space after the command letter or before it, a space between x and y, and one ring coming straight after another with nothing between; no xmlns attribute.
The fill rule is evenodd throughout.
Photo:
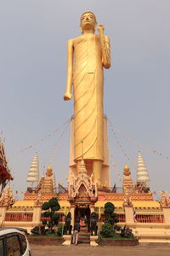
<svg viewBox="0 0 170 256"><path fill-rule="evenodd" d="M123 168L122 192L111 192L108 188L100 191L94 183L93 174L88 176L83 159L77 177L74 173L70 174L68 188L61 189L62 185L59 185L60 189L56 189L54 171L52 166L48 166L46 173L42 173L37 182L37 187L28 189L23 200L14 201L8 187L0 199L0 224L20 226L30 231L35 225L41 224L42 202L58 197L60 223L64 221L65 210L71 212L72 224L77 216L83 218L86 215L89 218L90 212L97 212L101 226L104 222L105 203L110 201L116 207L118 224L132 228L139 241L170 242L170 196L161 191L161 200L154 200L148 185L149 173L141 153L137 160L136 183L130 176L129 167L125 165Z"/></svg>

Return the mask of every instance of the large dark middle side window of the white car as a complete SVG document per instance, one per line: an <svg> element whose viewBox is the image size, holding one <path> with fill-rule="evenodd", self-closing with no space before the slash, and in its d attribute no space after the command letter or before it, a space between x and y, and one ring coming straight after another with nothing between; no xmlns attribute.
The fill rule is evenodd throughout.
<svg viewBox="0 0 170 256"><path fill-rule="evenodd" d="M18 236L9 236L7 240L7 256L20 256L20 241Z"/></svg>

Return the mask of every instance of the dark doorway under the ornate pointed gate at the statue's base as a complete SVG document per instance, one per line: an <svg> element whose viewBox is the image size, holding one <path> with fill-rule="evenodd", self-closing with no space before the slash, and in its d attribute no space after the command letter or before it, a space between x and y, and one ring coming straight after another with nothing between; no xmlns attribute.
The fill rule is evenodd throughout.
<svg viewBox="0 0 170 256"><path fill-rule="evenodd" d="M89 205L77 205L75 209L75 221L79 219L81 229L89 232L90 226L90 207Z"/></svg>

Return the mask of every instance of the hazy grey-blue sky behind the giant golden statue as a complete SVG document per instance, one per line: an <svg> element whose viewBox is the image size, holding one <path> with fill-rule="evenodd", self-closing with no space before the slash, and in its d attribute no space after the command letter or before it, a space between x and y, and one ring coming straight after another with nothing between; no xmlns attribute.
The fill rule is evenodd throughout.
<svg viewBox="0 0 170 256"><path fill-rule="evenodd" d="M150 172L151 190L170 192L168 0L0 1L0 131L5 137L14 189L26 190L35 152L41 173L52 160L57 183L66 184L69 128L63 134L62 125L73 113L73 102L63 101L66 44L69 38L80 35L80 16L87 10L94 12L98 24L105 25L105 34L111 39L112 66L105 71L105 114L129 137L127 140L115 130L116 139L108 127L117 170L122 175L127 163L135 180L140 150ZM34 143L34 147L17 153ZM111 166L111 183L115 182L119 186Z"/></svg>

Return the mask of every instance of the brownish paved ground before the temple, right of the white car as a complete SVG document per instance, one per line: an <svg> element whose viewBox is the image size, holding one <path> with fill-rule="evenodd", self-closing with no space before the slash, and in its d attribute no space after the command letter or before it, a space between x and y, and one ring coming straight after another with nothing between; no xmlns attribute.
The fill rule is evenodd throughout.
<svg viewBox="0 0 170 256"><path fill-rule="evenodd" d="M170 245L136 247L31 246L32 256L170 256Z"/></svg>

